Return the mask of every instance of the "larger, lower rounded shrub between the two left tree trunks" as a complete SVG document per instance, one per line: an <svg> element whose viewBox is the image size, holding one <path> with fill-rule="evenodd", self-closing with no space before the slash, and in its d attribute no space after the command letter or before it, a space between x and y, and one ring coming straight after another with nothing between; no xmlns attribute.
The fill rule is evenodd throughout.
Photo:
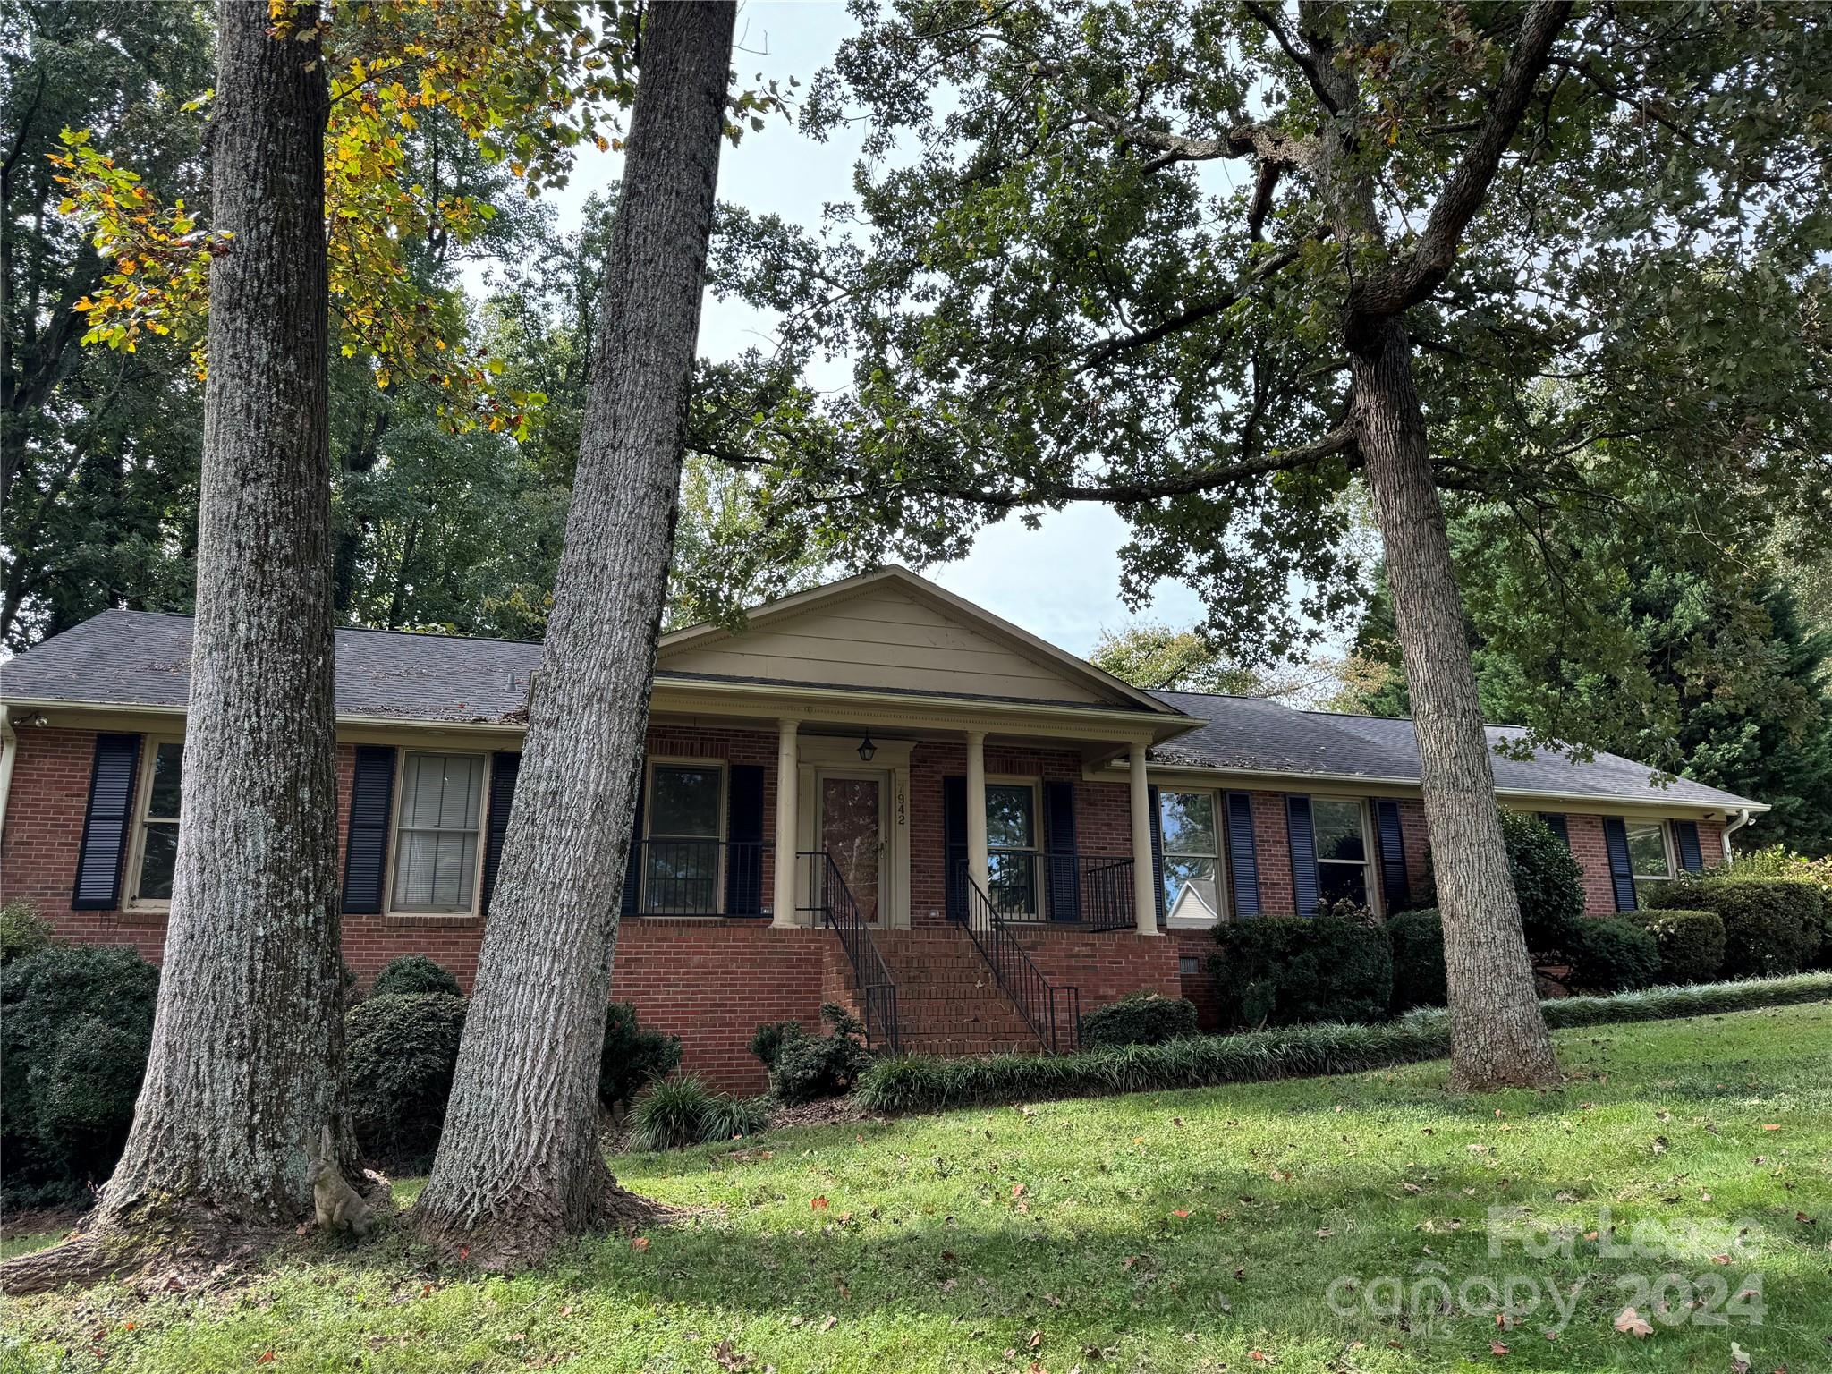
<svg viewBox="0 0 1832 1374"><path fill-rule="evenodd" d="M458 1070L465 1000L385 993L344 1013L350 1119L363 1152L412 1169L432 1158Z"/></svg>

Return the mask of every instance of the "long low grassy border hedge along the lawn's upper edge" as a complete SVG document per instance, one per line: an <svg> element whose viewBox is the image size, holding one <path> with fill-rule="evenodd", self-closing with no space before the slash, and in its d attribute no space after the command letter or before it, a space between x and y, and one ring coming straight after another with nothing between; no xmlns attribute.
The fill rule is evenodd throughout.
<svg viewBox="0 0 1832 1374"><path fill-rule="evenodd" d="M1546 1020L1596 1026L1612 1020L1663 1020L1715 1011L1817 1002L1832 997L1832 975L1805 973L1762 982L1652 987L1616 997L1566 997L1543 1002ZM1167 1044L1125 1044L1072 1055L991 1055L987 1059L876 1061L859 1079L859 1103L872 1112L982 1107L1042 1097L1094 1097L1114 1092L1209 1088L1224 1083L1359 1074L1451 1048L1449 1013L1422 1009L1378 1026L1286 1026L1240 1035L1202 1035Z"/></svg>

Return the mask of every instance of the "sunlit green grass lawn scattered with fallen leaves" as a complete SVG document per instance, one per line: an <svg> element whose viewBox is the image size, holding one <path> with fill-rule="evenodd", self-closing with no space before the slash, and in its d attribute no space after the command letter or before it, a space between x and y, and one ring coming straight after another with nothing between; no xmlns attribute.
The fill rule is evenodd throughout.
<svg viewBox="0 0 1832 1374"><path fill-rule="evenodd" d="M623 1156L692 1218L517 1279L308 1240L214 1295L13 1301L0 1369L1832 1369L1832 1006L1559 1042L1554 1094L1447 1097L1434 1063ZM1563 1238L1491 1253L1491 1207ZM1647 1257L1587 1238L1605 1207ZM1510 1279L1539 1304L1504 1328ZM1630 1303L1651 1336L1612 1328Z"/></svg>

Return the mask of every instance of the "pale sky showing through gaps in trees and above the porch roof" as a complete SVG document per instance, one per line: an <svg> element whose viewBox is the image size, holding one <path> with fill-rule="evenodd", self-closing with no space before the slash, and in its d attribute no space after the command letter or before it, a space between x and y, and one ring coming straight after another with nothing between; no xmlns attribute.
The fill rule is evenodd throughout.
<svg viewBox="0 0 1832 1374"><path fill-rule="evenodd" d="M786 88L793 75L806 86L852 27L839 0L747 0L738 11L735 66L744 81L762 73ZM753 211L813 224L823 203L850 196L856 154L856 139L815 143L775 119L762 134L746 134L736 148L725 148L718 192ZM590 154L572 183L546 198L561 229L577 227L586 196L616 174L614 154ZM727 357L768 339L768 319L746 306L709 297L700 350ZM980 537L971 557L929 568L927 575L1070 652L1086 652L1103 627L1130 619L1119 601L1118 550L1125 537L1125 522L1097 506L1050 515L1037 531L1006 520ZM1158 588L1145 614L1172 623L1202 617L1194 594L1174 583Z"/></svg>

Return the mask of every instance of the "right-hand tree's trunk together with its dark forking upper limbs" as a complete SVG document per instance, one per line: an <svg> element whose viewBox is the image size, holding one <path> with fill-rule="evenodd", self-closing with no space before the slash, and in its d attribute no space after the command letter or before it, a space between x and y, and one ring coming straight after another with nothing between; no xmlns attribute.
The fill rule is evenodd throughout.
<svg viewBox="0 0 1832 1374"><path fill-rule="evenodd" d="M1521 11L1521 31L1488 115L1451 172L1416 244L1390 253L1358 280L1343 311L1356 447L1387 553L1394 625L1418 729L1420 790L1444 912L1444 965L1451 1006L1451 1085L1464 1090L1546 1085L1559 1077L1552 1035L1539 1011L1521 903L1495 802L1495 764L1462 597L1431 469L1431 436L1412 383L1405 311L1449 275L1464 229L1495 180L1552 46L1570 15L1566 0ZM1361 92L1336 60L1326 5L1304 0L1304 71L1330 110L1356 110ZM1376 187L1345 121L1326 126L1314 174L1345 249L1385 242Z"/></svg>

